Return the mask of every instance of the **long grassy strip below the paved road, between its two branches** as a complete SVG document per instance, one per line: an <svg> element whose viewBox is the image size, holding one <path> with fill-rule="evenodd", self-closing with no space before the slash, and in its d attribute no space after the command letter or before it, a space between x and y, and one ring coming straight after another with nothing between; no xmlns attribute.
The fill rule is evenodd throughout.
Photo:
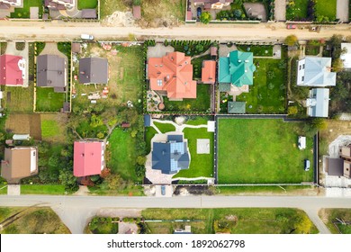
<svg viewBox="0 0 351 252"><path fill-rule="evenodd" d="M147 209L142 211L141 215L145 220L198 220L196 222L198 225L192 229L193 233L212 234L219 231L232 234L318 232L307 215L297 209ZM173 221L162 223L162 225L148 223L148 227L153 233L169 233L176 225ZM226 229L220 229L219 223Z"/></svg>

